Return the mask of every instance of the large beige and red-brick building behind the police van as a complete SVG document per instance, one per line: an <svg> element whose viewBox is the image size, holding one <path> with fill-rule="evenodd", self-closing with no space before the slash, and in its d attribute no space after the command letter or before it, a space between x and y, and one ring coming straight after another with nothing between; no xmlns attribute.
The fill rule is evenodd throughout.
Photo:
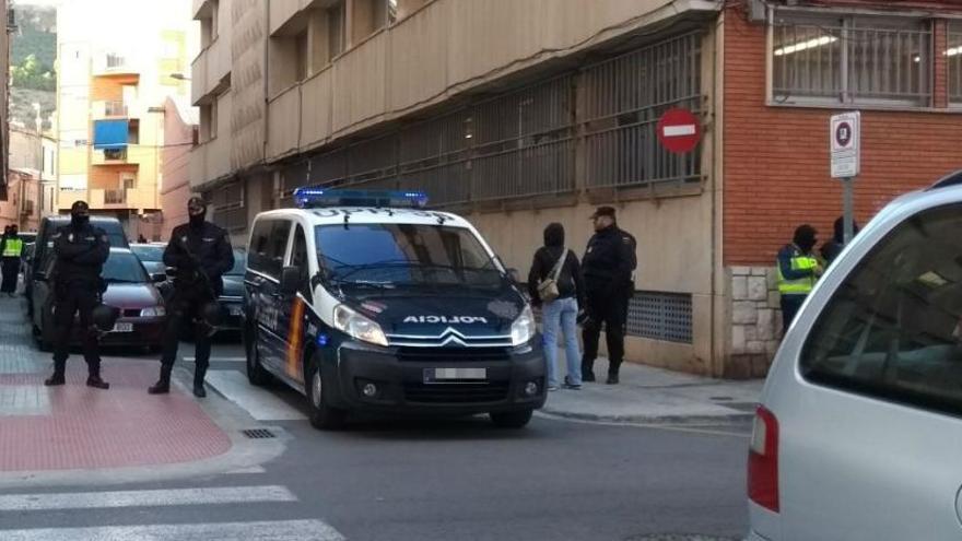
<svg viewBox="0 0 962 541"><path fill-rule="evenodd" d="M527 271L553 221L638 240L630 360L767 369L777 249L841 212L829 117L863 111L860 221L962 166L952 1L195 0L191 185L238 240L305 185L427 191ZM683 108L701 142L668 152Z"/></svg>

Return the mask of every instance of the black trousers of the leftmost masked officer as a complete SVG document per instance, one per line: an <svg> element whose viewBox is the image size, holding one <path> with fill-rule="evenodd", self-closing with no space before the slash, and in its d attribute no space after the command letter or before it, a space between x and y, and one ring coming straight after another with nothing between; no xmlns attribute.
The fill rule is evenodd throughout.
<svg viewBox="0 0 962 541"><path fill-rule="evenodd" d="M80 313L83 358L91 377L101 375L101 344L93 329L93 309L101 297L96 284L75 282L55 287L54 297L54 373L62 375L70 355L70 336L74 315Z"/></svg>

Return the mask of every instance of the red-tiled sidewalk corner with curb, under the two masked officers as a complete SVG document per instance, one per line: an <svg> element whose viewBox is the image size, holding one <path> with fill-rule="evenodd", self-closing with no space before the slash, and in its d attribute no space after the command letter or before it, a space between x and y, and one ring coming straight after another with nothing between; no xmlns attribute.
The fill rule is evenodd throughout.
<svg viewBox="0 0 962 541"><path fill-rule="evenodd" d="M231 449L231 437L180 390L149 397L152 363L105 364L109 390L86 387L68 365L67 385L46 374L0 374L0 472L96 470L192 462Z"/></svg>

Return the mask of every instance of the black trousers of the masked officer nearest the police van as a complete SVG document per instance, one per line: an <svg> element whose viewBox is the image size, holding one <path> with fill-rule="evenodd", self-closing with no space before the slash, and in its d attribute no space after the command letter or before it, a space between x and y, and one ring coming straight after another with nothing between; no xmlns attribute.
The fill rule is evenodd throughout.
<svg viewBox="0 0 962 541"><path fill-rule="evenodd" d="M164 330L164 350L161 367L169 376L177 360L177 345L180 330L186 328L193 337L195 379L203 379L210 366L211 338L208 327L201 321L201 307L213 301L210 293L195 289L175 291L167 304L167 328ZM186 326L186 327L185 327Z"/></svg>

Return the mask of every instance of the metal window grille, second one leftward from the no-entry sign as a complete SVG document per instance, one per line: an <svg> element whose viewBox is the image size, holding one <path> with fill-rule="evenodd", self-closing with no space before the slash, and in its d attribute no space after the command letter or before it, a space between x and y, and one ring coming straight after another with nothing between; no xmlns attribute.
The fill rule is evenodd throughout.
<svg viewBox="0 0 962 541"><path fill-rule="evenodd" d="M574 111L570 74L478 104L471 199L573 191Z"/></svg>

